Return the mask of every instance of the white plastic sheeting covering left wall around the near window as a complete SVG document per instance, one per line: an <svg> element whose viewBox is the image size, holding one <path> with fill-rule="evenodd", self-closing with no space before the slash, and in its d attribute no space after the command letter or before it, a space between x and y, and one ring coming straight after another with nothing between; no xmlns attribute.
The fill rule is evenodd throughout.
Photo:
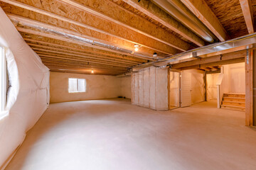
<svg viewBox="0 0 256 170"><path fill-rule="evenodd" d="M9 73L6 111L0 119L0 167L21 145L49 103L49 70L0 8L0 45Z"/></svg>

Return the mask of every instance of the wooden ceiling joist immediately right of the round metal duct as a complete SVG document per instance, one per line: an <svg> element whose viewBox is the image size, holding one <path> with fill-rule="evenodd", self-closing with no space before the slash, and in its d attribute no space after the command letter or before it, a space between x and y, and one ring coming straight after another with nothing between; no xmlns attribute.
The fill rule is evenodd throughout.
<svg viewBox="0 0 256 170"><path fill-rule="evenodd" d="M228 33L204 0L181 0L220 40L229 39Z"/></svg>

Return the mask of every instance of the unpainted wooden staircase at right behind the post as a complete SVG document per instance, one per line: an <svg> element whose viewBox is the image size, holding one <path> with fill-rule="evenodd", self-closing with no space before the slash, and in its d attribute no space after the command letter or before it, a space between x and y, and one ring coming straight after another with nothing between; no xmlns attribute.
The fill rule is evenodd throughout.
<svg viewBox="0 0 256 170"><path fill-rule="evenodd" d="M245 94L223 94L221 108L245 111Z"/></svg>

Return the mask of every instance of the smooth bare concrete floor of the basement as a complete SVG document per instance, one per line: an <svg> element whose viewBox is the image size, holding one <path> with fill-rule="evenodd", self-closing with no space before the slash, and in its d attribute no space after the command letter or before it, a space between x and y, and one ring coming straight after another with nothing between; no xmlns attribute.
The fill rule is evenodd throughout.
<svg viewBox="0 0 256 170"><path fill-rule="evenodd" d="M129 100L50 104L6 170L256 169L256 130L215 101L172 111Z"/></svg>

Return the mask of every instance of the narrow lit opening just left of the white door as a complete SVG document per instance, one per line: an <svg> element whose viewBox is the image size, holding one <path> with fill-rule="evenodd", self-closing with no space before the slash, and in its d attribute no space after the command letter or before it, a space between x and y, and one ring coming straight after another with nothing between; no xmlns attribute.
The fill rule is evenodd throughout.
<svg viewBox="0 0 256 170"><path fill-rule="evenodd" d="M169 105L178 107L179 98L179 73L170 72L170 92L169 92Z"/></svg>

